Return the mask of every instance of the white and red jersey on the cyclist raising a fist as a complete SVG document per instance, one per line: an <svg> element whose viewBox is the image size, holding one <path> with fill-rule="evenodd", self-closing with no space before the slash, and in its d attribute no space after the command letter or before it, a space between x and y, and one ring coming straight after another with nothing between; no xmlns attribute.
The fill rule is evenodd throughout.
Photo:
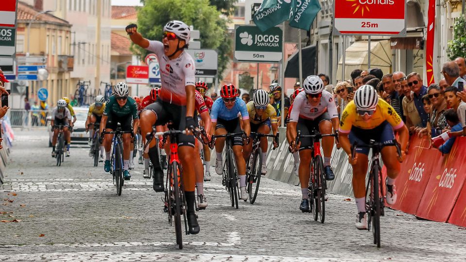
<svg viewBox="0 0 466 262"><path fill-rule="evenodd" d="M186 106L186 86L194 86L196 81L194 60L190 54L183 51L178 58L170 60L165 55L160 41L149 40L149 47L146 49L154 52L158 58L163 86L158 97L164 102Z"/></svg>

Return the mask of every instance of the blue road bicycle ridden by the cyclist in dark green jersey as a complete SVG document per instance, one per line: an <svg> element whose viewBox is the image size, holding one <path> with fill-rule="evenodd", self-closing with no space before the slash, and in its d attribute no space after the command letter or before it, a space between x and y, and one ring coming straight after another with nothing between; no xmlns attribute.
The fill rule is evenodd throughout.
<svg viewBox="0 0 466 262"><path fill-rule="evenodd" d="M117 187L117 194L121 196L121 189L124 184L123 178L123 134L131 134L131 137L134 137L133 131L122 131L121 124L117 124L117 129L115 131L105 131L103 130L100 142L104 139L104 134L114 134L112 139L112 156L110 158L110 173L113 176L113 183Z"/></svg>

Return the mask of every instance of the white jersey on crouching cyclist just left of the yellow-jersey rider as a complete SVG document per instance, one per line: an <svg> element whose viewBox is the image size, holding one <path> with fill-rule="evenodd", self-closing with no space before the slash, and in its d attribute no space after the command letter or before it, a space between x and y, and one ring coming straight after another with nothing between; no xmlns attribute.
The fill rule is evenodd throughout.
<svg viewBox="0 0 466 262"><path fill-rule="evenodd" d="M308 102L305 92L299 93L293 101L293 108L290 108L290 122L298 122L299 118L314 120L320 115L328 112L330 119L338 118L338 110L333 101L332 94L322 91L322 97L317 106L312 106Z"/></svg>

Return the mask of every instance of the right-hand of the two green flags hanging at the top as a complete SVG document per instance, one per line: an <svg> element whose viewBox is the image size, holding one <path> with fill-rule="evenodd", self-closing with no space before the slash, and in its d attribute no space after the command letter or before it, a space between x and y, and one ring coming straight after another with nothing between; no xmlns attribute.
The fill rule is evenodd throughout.
<svg viewBox="0 0 466 262"><path fill-rule="evenodd" d="M290 19L290 26L309 31L320 9L319 0L296 0L294 16Z"/></svg>

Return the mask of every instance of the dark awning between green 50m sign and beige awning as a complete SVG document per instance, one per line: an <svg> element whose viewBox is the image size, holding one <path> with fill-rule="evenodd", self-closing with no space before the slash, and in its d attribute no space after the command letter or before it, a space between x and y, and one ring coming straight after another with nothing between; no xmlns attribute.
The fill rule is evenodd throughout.
<svg viewBox="0 0 466 262"><path fill-rule="evenodd" d="M310 75L315 75L315 53L316 48L314 46L308 46L301 50L303 54L303 78ZM299 78L299 55L298 51L293 53L286 63L285 77Z"/></svg>

